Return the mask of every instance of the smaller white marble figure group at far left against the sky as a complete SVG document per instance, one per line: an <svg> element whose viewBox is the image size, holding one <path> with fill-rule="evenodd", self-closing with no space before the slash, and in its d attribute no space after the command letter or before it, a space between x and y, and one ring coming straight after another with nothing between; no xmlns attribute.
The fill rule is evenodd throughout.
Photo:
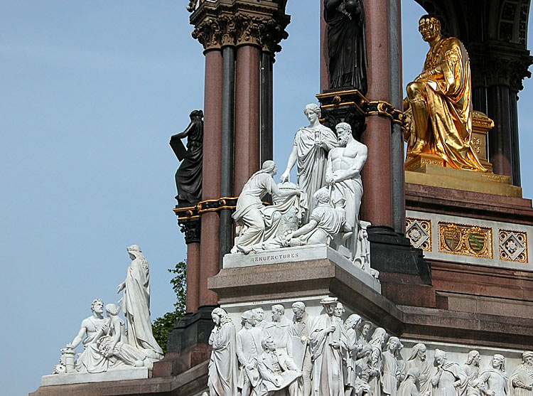
<svg viewBox="0 0 533 396"><path fill-rule="evenodd" d="M124 291L119 304L105 305L95 299L92 315L83 319L77 336L61 349L60 363L54 374L104 373L115 368L148 367L163 358L163 350L152 334L150 320L149 264L137 245L127 248L131 264L126 280L117 293ZM126 323L118 316L124 312ZM127 327L126 327L127 325ZM84 338L85 337L85 338ZM75 349L82 343L83 351L75 358Z"/></svg>

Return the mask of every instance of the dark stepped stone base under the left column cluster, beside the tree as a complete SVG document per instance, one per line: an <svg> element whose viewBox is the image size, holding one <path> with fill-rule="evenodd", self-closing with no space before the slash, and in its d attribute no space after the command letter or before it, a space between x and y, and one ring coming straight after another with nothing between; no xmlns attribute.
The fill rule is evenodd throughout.
<svg viewBox="0 0 533 396"><path fill-rule="evenodd" d="M185 370L209 360L211 347L208 344L213 328L211 311L215 306L200 306L198 311L188 313L168 333L166 355L154 363L154 377L178 375Z"/></svg>

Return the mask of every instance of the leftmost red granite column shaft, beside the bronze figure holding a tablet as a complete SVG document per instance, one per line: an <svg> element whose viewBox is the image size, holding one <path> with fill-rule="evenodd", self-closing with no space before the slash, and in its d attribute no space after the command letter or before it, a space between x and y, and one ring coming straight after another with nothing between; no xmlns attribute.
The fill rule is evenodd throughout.
<svg viewBox="0 0 533 396"><path fill-rule="evenodd" d="M220 198L220 144L222 139L222 52L205 51L202 199ZM216 305L217 294L208 290L208 278L219 271L218 213L202 215L198 305Z"/></svg>

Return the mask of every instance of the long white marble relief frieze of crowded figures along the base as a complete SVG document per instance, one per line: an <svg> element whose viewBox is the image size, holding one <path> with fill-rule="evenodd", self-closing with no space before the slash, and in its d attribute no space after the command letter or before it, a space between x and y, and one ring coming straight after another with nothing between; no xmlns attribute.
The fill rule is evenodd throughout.
<svg viewBox="0 0 533 396"><path fill-rule="evenodd" d="M522 353L512 373L495 354L480 368L471 350L463 365L436 348L427 359L424 343L402 356L399 338L359 315L343 321L335 297L322 299L323 314L311 317L302 301L271 306L271 321L260 307L244 311L241 329L224 309L212 311L209 396L533 396L533 352ZM204 396L207 392L204 393Z"/></svg>

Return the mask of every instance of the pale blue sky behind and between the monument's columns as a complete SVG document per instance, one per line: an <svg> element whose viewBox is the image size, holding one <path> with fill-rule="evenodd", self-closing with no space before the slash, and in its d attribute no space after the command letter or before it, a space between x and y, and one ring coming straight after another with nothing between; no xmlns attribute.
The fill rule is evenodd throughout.
<svg viewBox="0 0 533 396"><path fill-rule="evenodd" d="M284 168L303 106L318 93L318 1L289 1L274 65L274 159ZM152 318L172 309L166 269L185 258L168 146L203 108L203 54L186 1L0 0L1 230L6 302L0 389L36 390L97 297L119 299L138 244L151 265ZM300 6L300 7L298 7ZM421 70L423 14L402 1L404 85ZM519 101L531 197L532 82ZM372 98L377 99L377 98Z"/></svg>

